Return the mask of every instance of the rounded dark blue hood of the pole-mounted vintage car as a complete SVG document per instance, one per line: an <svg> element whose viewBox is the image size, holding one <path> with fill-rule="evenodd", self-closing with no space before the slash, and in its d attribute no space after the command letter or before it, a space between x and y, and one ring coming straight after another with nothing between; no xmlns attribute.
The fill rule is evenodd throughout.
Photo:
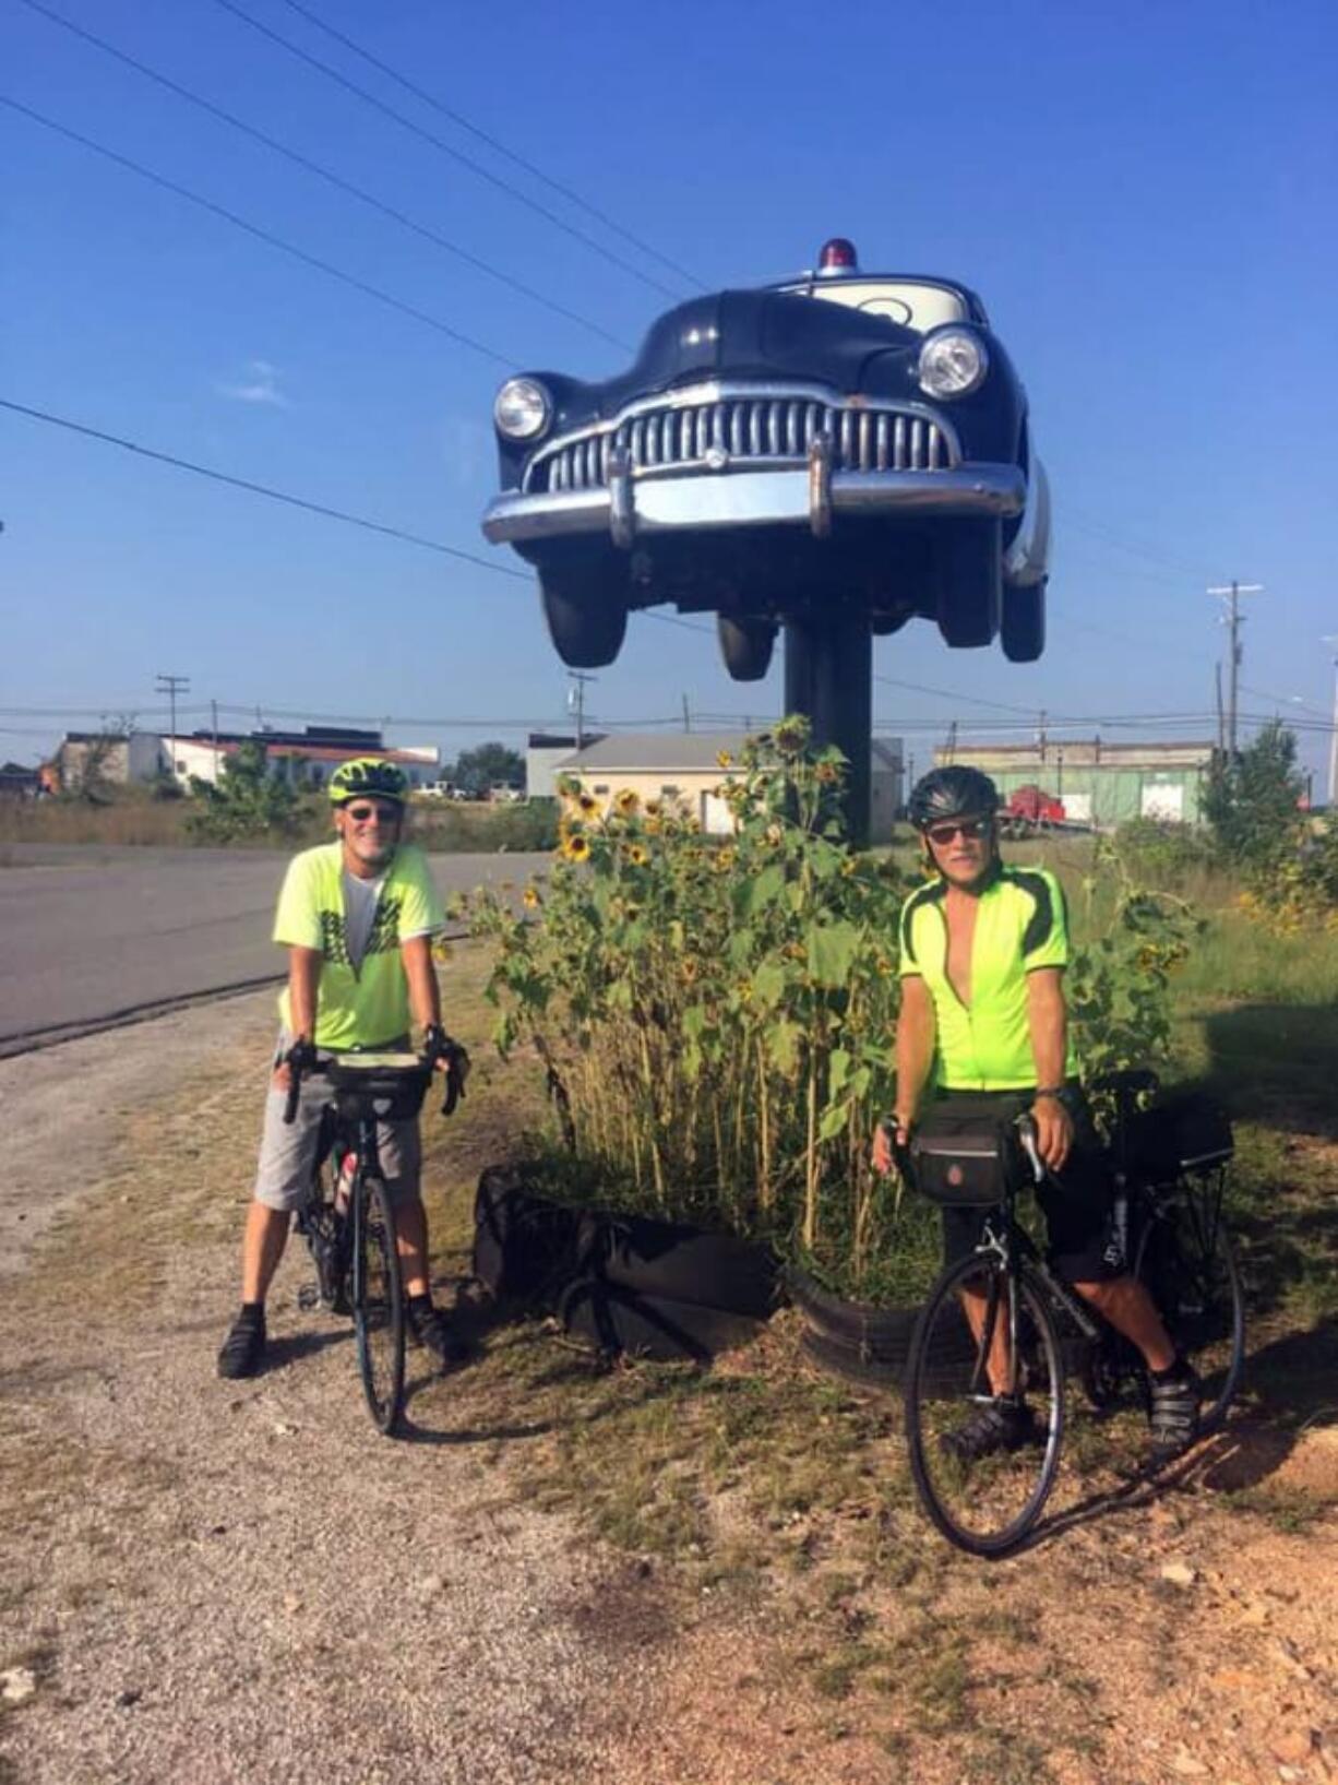
<svg viewBox="0 0 1338 1785"><path fill-rule="evenodd" d="M635 398L703 378L780 378L869 389L871 361L904 377L921 336L887 316L780 291L717 291L651 325L626 373L603 384L560 380L557 427L566 432L615 416ZM892 364L894 362L894 364ZM544 377L541 373L541 377Z"/></svg>

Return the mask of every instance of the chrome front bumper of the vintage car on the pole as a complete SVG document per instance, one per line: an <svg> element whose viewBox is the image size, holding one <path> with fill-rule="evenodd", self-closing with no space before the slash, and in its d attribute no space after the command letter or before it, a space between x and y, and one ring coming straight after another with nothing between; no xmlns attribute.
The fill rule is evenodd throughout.
<svg viewBox="0 0 1338 1785"><path fill-rule="evenodd" d="M562 489L496 496L483 516L494 544L523 544L573 534L608 534L630 546L642 534L715 527L808 527L822 539L833 514L894 519L999 516L1026 507L1028 489L1013 464L963 464L942 471L835 471L826 441L808 462L776 471L696 471L687 477L633 475L610 466L607 489Z"/></svg>

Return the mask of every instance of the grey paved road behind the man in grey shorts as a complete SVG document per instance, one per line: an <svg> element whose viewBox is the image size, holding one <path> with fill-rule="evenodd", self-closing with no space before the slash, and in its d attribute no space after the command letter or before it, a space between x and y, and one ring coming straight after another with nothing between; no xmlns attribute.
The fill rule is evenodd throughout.
<svg viewBox="0 0 1338 1785"><path fill-rule="evenodd" d="M0 868L0 1053L37 1034L260 982L287 851L9 844ZM434 855L442 894L524 878L546 855Z"/></svg>

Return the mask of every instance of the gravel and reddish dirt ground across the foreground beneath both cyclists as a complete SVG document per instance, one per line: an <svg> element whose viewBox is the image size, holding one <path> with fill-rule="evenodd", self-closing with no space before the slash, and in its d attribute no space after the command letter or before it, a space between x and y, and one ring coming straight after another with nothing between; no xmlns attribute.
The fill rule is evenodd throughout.
<svg viewBox="0 0 1338 1785"><path fill-rule="evenodd" d="M698 1494L710 1537L660 1558L557 1490L628 1389L591 1401L533 1330L444 1383L416 1364L416 1440L387 1444L291 1260L275 1367L219 1383L269 1037L262 996L0 1062L4 1785L1338 1778L1324 1421L1245 1424L1001 1565L888 1498L878 1444L835 1512L726 1483ZM781 1317L758 1369L799 1367ZM1252 1482L1265 1503L1226 1499Z"/></svg>

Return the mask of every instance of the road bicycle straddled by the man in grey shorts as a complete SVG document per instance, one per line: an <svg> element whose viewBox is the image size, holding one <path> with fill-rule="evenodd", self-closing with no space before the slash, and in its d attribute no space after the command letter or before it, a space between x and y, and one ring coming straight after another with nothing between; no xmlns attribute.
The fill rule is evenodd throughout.
<svg viewBox="0 0 1338 1785"><path fill-rule="evenodd" d="M450 1116L464 1082L460 1062L467 1057L450 1042L444 1059L441 1112ZM316 1264L316 1285L300 1301L353 1316L362 1392L373 1424L385 1437L400 1430L405 1407L405 1299L376 1128L417 1116L434 1060L430 1053L343 1053L307 1066L289 1062L284 1121L296 1117L303 1076L330 1083L310 1194L298 1210L298 1232Z"/></svg>

